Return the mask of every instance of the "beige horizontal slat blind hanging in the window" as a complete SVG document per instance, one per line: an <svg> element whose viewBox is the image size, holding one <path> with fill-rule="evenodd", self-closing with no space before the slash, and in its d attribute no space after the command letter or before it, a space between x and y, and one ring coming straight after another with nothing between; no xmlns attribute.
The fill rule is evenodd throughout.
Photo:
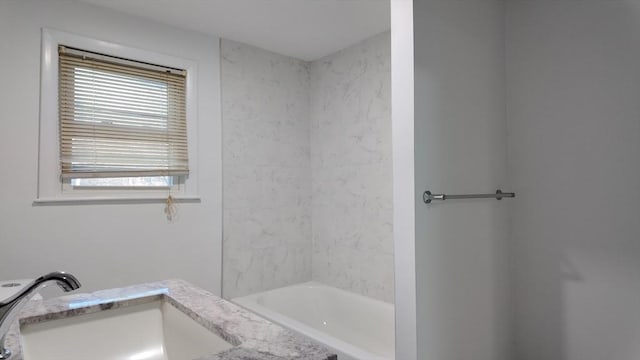
<svg viewBox="0 0 640 360"><path fill-rule="evenodd" d="M58 53L63 179L189 174L184 71Z"/></svg>

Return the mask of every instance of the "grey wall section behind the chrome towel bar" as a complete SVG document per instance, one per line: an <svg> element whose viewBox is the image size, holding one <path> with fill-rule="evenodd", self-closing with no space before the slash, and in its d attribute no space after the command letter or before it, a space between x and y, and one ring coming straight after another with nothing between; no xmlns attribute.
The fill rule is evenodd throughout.
<svg viewBox="0 0 640 360"><path fill-rule="evenodd" d="M508 359L510 201L421 199L510 189L503 3L414 1L413 24L418 358Z"/></svg>

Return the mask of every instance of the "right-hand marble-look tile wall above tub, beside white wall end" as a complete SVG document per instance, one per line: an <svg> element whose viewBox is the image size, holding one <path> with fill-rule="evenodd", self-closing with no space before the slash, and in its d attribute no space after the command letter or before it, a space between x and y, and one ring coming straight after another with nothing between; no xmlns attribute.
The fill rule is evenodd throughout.
<svg viewBox="0 0 640 360"><path fill-rule="evenodd" d="M390 34L310 71L313 279L393 302Z"/></svg>

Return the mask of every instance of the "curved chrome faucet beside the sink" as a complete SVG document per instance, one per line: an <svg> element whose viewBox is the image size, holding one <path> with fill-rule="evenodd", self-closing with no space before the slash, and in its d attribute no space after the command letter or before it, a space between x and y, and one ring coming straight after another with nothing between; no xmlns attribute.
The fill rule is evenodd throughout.
<svg viewBox="0 0 640 360"><path fill-rule="evenodd" d="M33 280L17 294L0 299L0 360L8 359L11 351L4 347L4 338L9 332L9 327L18 316L20 309L35 295L37 290L49 281L55 281L65 292L76 290L80 287L80 282L75 276L61 271L52 272Z"/></svg>

